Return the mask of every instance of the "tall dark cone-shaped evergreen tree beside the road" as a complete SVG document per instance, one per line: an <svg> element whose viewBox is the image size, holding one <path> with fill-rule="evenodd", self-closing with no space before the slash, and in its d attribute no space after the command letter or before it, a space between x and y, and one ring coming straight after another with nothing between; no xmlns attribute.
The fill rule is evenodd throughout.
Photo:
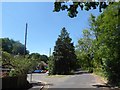
<svg viewBox="0 0 120 90"><path fill-rule="evenodd" d="M62 28L54 47L51 74L70 74L75 69L76 55L72 39L67 30Z"/></svg>

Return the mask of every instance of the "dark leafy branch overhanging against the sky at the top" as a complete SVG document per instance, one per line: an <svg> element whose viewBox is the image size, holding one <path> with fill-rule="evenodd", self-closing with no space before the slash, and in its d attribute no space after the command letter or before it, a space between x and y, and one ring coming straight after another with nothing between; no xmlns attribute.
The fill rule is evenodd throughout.
<svg viewBox="0 0 120 90"><path fill-rule="evenodd" d="M67 0L69 1L69 0ZM113 2L108 1L109 4L113 4ZM78 8L81 8L81 10L89 11L91 9L96 9L99 7L99 11L102 12L102 9L105 9L109 4L106 2L72 2L67 3L66 1L56 1L54 2L54 12L59 12L60 10L67 10L68 16L71 18L74 18L78 14Z"/></svg>

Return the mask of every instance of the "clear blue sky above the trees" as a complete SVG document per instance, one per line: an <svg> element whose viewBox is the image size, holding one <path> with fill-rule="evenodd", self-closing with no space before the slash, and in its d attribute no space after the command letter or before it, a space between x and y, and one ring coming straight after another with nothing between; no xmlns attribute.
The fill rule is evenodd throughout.
<svg viewBox="0 0 120 90"><path fill-rule="evenodd" d="M27 49L30 53L49 54L63 27L67 29L74 45L82 37L82 30L89 28L90 14L99 10L80 11L70 18L66 11L53 12L53 2L2 3L2 37L9 37L24 44L25 24L28 23Z"/></svg>

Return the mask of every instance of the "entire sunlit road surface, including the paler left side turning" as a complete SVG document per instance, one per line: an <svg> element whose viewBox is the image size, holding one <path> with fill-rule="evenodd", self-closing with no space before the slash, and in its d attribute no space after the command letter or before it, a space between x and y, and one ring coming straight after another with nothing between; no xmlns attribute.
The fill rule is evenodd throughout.
<svg viewBox="0 0 120 90"><path fill-rule="evenodd" d="M28 80L30 80L30 75L28 75ZM105 88L103 82L99 82L98 78L93 74L80 72L75 75L54 75L48 76L47 74L32 74L32 81L44 82L46 89L53 88ZM103 89L99 89L103 90ZM106 89L105 89L106 90ZM107 89L108 90L108 89Z"/></svg>

